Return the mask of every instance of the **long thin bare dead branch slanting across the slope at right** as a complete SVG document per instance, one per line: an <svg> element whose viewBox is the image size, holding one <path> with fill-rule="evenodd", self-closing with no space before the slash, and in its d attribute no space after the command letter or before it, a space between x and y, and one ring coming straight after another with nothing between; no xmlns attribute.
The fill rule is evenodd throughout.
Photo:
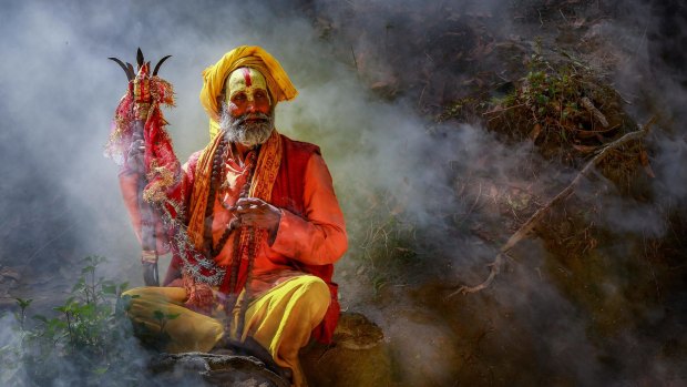
<svg viewBox="0 0 687 387"><path fill-rule="evenodd" d="M639 130L627 133L624 136L619 138L618 140L611 142L606 146L604 146L598 153L596 153L594 157L592 157L592 160L589 160L585 164L585 166L580 171L580 173L577 173L575 179L573 179L573 181L563 191L561 191L554 198L548 201L544 206L542 206L532 216L530 216L530 218L525 223L523 223L523 225L520 226L520 228L517 228L517 231L513 235L511 235L507 242L503 246L501 246L501 248L499 249L499 254L496 255L496 258L494 259L494 262L488 265L488 267L490 267L490 273L489 273L489 277L486 277L484 282L475 286L463 285L458 291L449 294L448 297L452 297L459 293L460 294L476 293L476 292L480 292L489 287L491 283L494 281L494 278L496 277L496 275L499 275L499 273L501 272L501 264L503 263L503 255L505 255L509 251L511 251L511 248L513 248L517 243L520 243L527 234L530 234L532 230L534 228L534 226L536 226L540 223L542 217L544 217L544 215L554 205L567 198L574 192L575 187L580 184L580 182L582 182L582 179L586 176L591 171L593 171L593 167L597 165L598 163L601 163L609 154L612 150L617 149L633 140L639 140L644 138L648 133L649 126L655 121L656 121L656 118L654 116L644 126L640 126Z"/></svg>

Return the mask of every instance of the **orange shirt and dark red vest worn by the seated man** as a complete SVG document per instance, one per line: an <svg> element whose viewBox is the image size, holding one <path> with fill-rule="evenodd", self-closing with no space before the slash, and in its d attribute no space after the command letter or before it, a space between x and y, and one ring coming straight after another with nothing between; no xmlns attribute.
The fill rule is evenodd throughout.
<svg viewBox="0 0 687 387"><path fill-rule="evenodd" d="M339 313L337 286L331 282L331 264L347 249L344 215L334 192L327 165L319 155L319 149L311 144L293 141L284 135L280 138L285 153L270 202L280 207L281 218L274 242L270 244L264 241L258 248L250 289L254 296L258 296L285 279L304 273L322 278L329 286L331 303L322 324L314 334L320 342L328 343ZM191 192L193 192L199 153L193 154L184 165L181 192L186 208L191 208ZM226 183L218 192L213 206L213 245L217 244L232 220L232 214L223 206L223 203L235 204L247 179L247 171L233 154L227 157L225 170ZM141 221L135 195L136 176L121 173L120 181L134 228L140 236ZM157 235L163 235L163 233L158 232ZM227 269L233 256L234 237L235 235L227 241L215 258L217 265ZM180 257L173 258L164 281L165 285L178 276L182 265ZM243 275L245 276L245 273ZM225 279L227 277L228 273ZM225 293L229 291L222 286L221 289Z"/></svg>

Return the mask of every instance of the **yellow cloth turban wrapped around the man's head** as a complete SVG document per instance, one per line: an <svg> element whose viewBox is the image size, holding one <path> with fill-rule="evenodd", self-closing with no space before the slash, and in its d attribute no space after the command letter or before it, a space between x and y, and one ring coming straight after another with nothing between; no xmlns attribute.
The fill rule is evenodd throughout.
<svg viewBox="0 0 687 387"><path fill-rule="evenodd" d="M280 101L290 101L298 94L281 64L267 51L257 45L235 48L225 53L217 63L203 71L201 103L209 115L211 139L219 132L218 122L222 115L219 95L224 90L224 83L232 71L238 68L253 68L265 75L268 91L275 104Z"/></svg>

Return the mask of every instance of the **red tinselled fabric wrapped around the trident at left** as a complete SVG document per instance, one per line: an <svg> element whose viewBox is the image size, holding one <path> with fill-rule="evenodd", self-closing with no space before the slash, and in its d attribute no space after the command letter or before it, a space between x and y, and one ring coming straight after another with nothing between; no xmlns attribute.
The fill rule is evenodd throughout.
<svg viewBox="0 0 687 387"><path fill-rule="evenodd" d="M147 70L144 65L136 79L129 82L127 93L115 111L105 154L122 167L120 185L142 247L165 254L170 240L160 210L164 207L172 217L176 216L181 169L160 106L174 105L174 91L168 82L148 78ZM134 131L141 125L146 145L144 165L131 164L129 151L136 135ZM143 183L145 187L141 186Z"/></svg>

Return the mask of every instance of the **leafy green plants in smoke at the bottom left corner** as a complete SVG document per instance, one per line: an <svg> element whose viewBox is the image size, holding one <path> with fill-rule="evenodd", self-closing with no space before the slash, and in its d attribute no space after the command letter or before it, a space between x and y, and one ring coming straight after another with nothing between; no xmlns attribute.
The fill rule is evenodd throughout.
<svg viewBox="0 0 687 387"><path fill-rule="evenodd" d="M27 319L31 299L17 298L20 312L16 339L0 348L0 385L50 385L76 375L80 385L135 385L131 373L132 337L125 312L131 296L122 296L127 283L96 275L105 262L100 256L84 259L81 276L53 316ZM170 318L170 317L167 317ZM113 377L116 376L116 377Z"/></svg>

